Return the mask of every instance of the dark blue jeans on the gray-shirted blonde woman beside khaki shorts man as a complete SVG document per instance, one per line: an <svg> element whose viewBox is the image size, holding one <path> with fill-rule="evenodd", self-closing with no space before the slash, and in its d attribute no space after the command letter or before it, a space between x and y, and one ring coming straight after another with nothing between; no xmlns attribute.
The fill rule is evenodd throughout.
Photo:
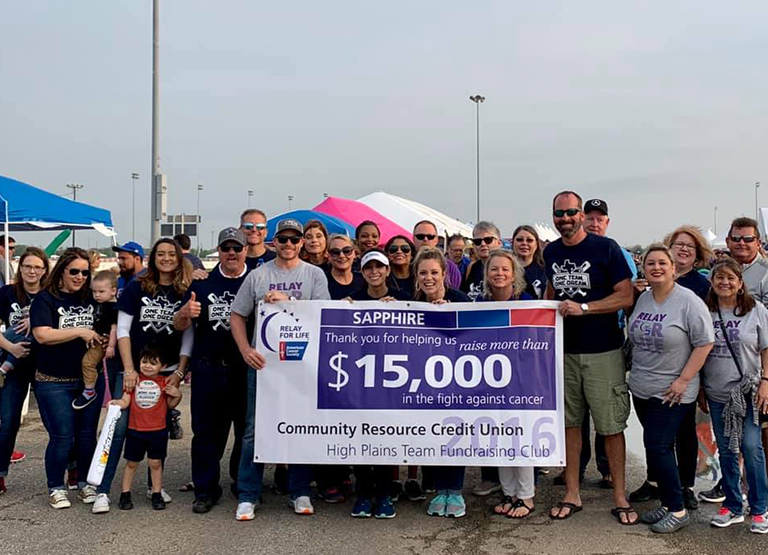
<svg viewBox="0 0 768 555"><path fill-rule="evenodd" d="M683 421L696 411L696 403L684 403L673 407L664 405L661 399L632 397L635 412L643 426L643 444L648 473L659 483L661 504L671 512L682 511L683 486L675 458L675 437Z"/></svg>

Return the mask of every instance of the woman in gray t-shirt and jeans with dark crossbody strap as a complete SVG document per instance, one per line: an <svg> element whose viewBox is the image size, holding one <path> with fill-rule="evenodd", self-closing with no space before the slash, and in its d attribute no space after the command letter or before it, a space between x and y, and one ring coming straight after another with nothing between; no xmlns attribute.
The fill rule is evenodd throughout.
<svg viewBox="0 0 768 555"><path fill-rule="evenodd" d="M744 522L739 453L750 532L768 533L768 478L760 439L760 415L768 414L768 310L744 286L742 266L726 258L712 268L707 298L715 346L704 363L699 407L712 416L725 502L710 523L718 528Z"/></svg>

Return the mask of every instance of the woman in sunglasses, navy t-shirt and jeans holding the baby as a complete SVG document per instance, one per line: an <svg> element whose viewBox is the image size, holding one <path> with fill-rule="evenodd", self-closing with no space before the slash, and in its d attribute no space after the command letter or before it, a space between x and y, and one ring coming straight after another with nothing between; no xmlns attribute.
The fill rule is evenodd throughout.
<svg viewBox="0 0 768 555"><path fill-rule="evenodd" d="M59 257L43 291L30 306L30 325L35 338L35 397L48 432L45 473L48 503L54 509L70 506L64 471L74 445L77 468L85 478L96 448L96 427L104 393L103 377L97 382L97 400L83 410L72 408L80 395L82 359L88 347L102 338L93 328L94 305L90 291L88 253L70 248ZM79 483L80 499L93 503L96 488Z"/></svg>

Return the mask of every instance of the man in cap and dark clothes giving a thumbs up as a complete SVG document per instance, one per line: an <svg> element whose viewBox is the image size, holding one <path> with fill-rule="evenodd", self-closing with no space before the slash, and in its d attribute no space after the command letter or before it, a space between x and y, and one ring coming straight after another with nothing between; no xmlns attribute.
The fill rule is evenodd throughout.
<svg viewBox="0 0 768 555"><path fill-rule="evenodd" d="M230 332L230 311L245 281L248 242L241 229L228 227L219 233L219 264L208 279L195 280L174 317L174 327L194 331L190 362L192 380L192 482L195 513L207 513L219 500L221 458L234 426L235 443L229 458L229 475L236 491L237 471L245 430L246 372ZM253 316L246 328L253 330Z"/></svg>

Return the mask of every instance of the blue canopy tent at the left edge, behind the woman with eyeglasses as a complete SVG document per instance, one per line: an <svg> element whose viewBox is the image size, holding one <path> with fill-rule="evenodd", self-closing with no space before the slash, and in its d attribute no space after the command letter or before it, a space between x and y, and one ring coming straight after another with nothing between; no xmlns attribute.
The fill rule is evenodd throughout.
<svg viewBox="0 0 768 555"><path fill-rule="evenodd" d="M107 237L115 236L109 210L75 202L1 175L0 210L6 252L11 231L93 229ZM9 259L5 257L6 267L3 270L6 278Z"/></svg>

